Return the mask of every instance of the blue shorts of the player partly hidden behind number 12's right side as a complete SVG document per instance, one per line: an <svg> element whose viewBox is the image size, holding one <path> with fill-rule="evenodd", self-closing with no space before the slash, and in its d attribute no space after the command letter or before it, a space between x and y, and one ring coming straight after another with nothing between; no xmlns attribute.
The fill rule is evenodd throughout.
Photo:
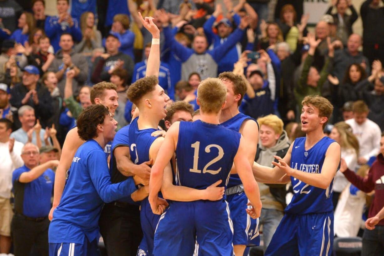
<svg viewBox="0 0 384 256"><path fill-rule="evenodd" d="M244 192L227 195L233 222L233 245L260 245L259 219L252 219L245 211L248 198Z"/></svg>

